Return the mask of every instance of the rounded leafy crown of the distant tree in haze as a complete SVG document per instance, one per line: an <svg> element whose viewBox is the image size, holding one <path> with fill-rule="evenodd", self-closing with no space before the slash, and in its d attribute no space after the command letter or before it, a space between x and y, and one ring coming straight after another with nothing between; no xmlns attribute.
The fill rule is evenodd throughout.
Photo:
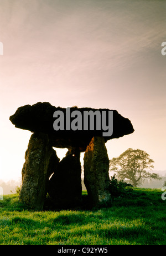
<svg viewBox="0 0 166 256"><path fill-rule="evenodd" d="M146 178L160 179L158 174L152 173L153 163L146 151L129 148L110 160L110 171L114 171L118 179L126 179L133 186L137 186Z"/></svg>

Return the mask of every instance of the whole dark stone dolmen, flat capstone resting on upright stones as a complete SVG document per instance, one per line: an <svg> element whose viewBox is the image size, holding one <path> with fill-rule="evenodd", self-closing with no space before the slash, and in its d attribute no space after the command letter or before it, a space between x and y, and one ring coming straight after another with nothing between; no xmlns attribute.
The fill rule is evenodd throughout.
<svg viewBox="0 0 166 256"><path fill-rule="evenodd" d="M107 203L109 160L105 142L131 134L134 129L131 121L113 110L113 134L103 136L103 130L55 131L53 114L66 109L54 107L49 102L19 107L9 119L15 127L34 132L25 152L22 170L22 189L20 200L34 210L43 210L46 193L56 208L71 208L81 202L81 164L80 152L84 152L85 186L91 206ZM96 111L96 109L76 107L72 110ZM106 109L99 109L103 111ZM106 110L108 111L108 110ZM54 147L67 147L69 150L59 162ZM51 177L50 175L53 174Z"/></svg>

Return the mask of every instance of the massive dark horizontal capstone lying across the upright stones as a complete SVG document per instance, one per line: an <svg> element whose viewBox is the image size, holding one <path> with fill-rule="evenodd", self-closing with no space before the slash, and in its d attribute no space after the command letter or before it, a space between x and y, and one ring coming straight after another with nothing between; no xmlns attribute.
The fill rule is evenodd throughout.
<svg viewBox="0 0 166 256"><path fill-rule="evenodd" d="M86 146L89 145L92 137L102 136L101 131L55 131L53 129L53 123L55 118L53 114L55 111L63 111L66 116L66 109L61 107L54 107L49 102L38 102L32 106L25 105L19 107L14 115L10 117L12 124L20 129L29 130L32 132L44 132L49 135L52 146L54 147L77 147L81 152L84 152ZM79 110L83 116L84 111L96 111L91 108L75 108L72 107L71 111ZM108 111L108 109L98 109L98 111ZM83 122L83 121L82 121ZM131 134L134 131L131 121L118 114L116 110L113 110L113 134L111 136L103 136L105 142L107 140L122 137L124 135Z"/></svg>

